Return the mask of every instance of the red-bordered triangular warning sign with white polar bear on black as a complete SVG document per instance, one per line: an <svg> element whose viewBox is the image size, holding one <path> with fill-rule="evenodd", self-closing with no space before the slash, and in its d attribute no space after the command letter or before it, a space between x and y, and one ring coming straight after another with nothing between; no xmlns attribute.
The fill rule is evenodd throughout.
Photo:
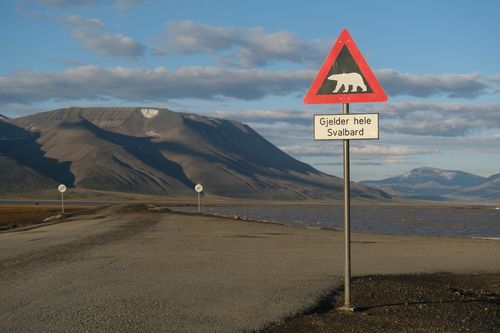
<svg viewBox="0 0 500 333"><path fill-rule="evenodd" d="M347 29L342 30L309 91L306 104L385 102L387 95Z"/></svg>

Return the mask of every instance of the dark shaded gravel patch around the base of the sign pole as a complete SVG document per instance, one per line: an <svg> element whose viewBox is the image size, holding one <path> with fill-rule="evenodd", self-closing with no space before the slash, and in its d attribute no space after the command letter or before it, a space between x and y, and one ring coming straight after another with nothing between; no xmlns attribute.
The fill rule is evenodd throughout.
<svg viewBox="0 0 500 333"><path fill-rule="evenodd" d="M260 333L499 332L500 274L367 276L352 281L355 312L341 311L343 287Z"/></svg>

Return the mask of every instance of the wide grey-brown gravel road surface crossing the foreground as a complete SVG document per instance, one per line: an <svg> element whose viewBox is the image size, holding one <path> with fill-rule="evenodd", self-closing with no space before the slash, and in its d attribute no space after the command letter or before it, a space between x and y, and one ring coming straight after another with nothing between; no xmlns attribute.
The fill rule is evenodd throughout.
<svg viewBox="0 0 500 333"><path fill-rule="evenodd" d="M353 235L353 274L500 271L500 242ZM1 332L252 331L338 288L343 235L144 205L0 233Z"/></svg>

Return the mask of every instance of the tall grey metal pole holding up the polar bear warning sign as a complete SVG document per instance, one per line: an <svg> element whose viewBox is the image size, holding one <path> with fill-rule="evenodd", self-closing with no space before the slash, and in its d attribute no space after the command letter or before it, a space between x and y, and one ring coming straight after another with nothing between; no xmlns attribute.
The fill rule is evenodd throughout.
<svg viewBox="0 0 500 333"><path fill-rule="evenodd" d="M349 114L349 104L344 103L344 114ZM353 311L351 306L351 175L349 140L344 140L344 310Z"/></svg>

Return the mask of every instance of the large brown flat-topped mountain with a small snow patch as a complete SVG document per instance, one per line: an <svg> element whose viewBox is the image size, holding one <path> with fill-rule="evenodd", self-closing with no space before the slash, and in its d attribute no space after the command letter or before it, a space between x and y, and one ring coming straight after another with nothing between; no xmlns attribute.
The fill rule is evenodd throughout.
<svg viewBox="0 0 500 333"><path fill-rule="evenodd" d="M74 107L0 120L0 133L0 170L30 170L32 187L189 195L201 183L225 197L342 197L339 178L235 121L167 109ZM0 189L22 190L19 178L6 178ZM388 197L359 184L352 195Z"/></svg>

